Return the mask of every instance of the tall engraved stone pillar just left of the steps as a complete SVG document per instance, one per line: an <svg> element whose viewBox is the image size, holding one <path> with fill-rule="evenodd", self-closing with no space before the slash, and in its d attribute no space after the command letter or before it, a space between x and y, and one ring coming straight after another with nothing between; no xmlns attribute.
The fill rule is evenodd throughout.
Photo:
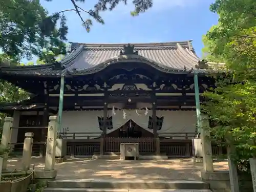
<svg viewBox="0 0 256 192"><path fill-rule="evenodd" d="M45 170L54 170L57 139L57 116L49 117Z"/></svg>

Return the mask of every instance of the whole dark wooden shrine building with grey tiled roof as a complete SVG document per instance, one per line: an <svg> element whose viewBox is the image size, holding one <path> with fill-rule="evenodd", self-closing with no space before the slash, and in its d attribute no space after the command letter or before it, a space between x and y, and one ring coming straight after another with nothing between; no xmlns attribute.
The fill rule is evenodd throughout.
<svg viewBox="0 0 256 192"><path fill-rule="evenodd" d="M49 116L68 142L68 155L119 153L120 143L137 142L144 154L190 156L200 96L214 87L208 67L189 41L145 44L78 44L59 62L2 66L0 78L30 93L2 103L11 115L12 143L46 141ZM199 112L198 112L199 113ZM39 148L33 145L33 153ZM18 151L15 145L14 150Z"/></svg>

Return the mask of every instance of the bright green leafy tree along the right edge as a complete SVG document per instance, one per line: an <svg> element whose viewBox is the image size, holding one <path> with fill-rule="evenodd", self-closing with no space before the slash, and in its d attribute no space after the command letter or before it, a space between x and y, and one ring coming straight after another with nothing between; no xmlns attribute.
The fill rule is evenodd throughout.
<svg viewBox="0 0 256 192"><path fill-rule="evenodd" d="M215 90L204 94L204 110L215 122L216 139L236 144L240 161L256 155L256 2L217 0L210 10L220 18L205 36L208 51L223 58L228 71Z"/></svg>

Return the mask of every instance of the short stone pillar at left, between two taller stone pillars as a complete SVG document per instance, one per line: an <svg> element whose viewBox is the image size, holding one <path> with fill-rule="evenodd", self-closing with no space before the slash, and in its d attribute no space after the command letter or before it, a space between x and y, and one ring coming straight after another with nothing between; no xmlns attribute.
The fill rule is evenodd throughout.
<svg viewBox="0 0 256 192"><path fill-rule="evenodd" d="M23 155L22 155L22 168L23 170L29 170L32 154L34 133L26 133L23 145Z"/></svg>

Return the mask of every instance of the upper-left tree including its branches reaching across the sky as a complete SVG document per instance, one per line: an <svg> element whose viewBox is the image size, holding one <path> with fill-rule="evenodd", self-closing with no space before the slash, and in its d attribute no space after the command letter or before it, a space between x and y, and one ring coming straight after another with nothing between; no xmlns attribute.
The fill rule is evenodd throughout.
<svg viewBox="0 0 256 192"><path fill-rule="evenodd" d="M52 1L52 0L46 0ZM68 0L66 0L68 1ZM82 13L104 24L99 13L113 10L120 2L127 0L99 0L95 7L89 11L79 7L76 2L86 3L84 0L70 0L73 7L49 15L39 3L39 0L3 0L0 2L0 48L14 61L33 55L44 62L54 62L57 55L67 53L68 26L65 12L74 11L81 19L82 25L89 32L92 25L91 18L84 19ZM134 0L135 11L138 15L152 7L152 0ZM57 26L57 22L60 26ZM52 54L48 54L51 52Z"/></svg>

